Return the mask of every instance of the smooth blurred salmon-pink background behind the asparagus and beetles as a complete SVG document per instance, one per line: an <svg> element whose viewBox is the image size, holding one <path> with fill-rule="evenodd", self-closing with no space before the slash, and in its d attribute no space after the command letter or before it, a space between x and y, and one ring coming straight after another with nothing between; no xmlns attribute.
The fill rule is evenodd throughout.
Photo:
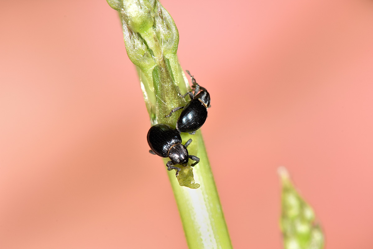
<svg viewBox="0 0 373 249"><path fill-rule="evenodd" d="M373 248L373 1L162 3L212 97L202 132L233 247L282 248L286 166L326 248ZM115 10L0 12L0 248L186 249Z"/></svg>

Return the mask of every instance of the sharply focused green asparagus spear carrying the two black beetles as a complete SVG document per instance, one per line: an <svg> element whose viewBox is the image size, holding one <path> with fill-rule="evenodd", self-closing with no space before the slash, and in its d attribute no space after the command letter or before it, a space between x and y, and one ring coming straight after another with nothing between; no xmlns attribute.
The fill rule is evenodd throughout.
<svg viewBox="0 0 373 249"><path fill-rule="evenodd" d="M173 108L184 106L186 99L178 94L191 90L176 55L179 32L175 22L157 0L107 0L107 3L120 13L127 55L137 66L151 125L165 123L175 127L181 111L167 119L164 116ZM168 172L188 246L190 249L230 249L231 241L201 132L181 136L183 141L192 138L189 154L200 158L195 172L189 164L182 167L178 178L174 171Z"/></svg>

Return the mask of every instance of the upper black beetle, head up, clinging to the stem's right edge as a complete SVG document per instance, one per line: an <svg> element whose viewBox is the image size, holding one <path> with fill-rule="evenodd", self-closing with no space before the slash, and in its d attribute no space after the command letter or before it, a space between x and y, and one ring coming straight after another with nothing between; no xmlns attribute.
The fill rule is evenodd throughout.
<svg viewBox="0 0 373 249"><path fill-rule="evenodd" d="M179 96L183 98L189 94L191 100L185 106L179 106L172 109L169 115L166 115L165 117L168 118L172 113L184 108L176 122L176 130L194 135L195 131L201 128L206 121L207 109L210 107L210 94L206 88L198 85L195 78L188 70L186 70L186 72L192 79L192 88L195 88L194 94L191 91L184 95L180 94ZM200 93L198 93L199 90L201 90Z"/></svg>

